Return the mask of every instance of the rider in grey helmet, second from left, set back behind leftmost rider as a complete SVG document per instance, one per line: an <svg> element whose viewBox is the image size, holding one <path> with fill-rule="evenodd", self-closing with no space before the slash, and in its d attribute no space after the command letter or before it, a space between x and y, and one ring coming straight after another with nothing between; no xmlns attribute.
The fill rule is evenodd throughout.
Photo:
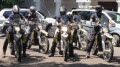
<svg viewBox="0 0 120 67"><path fill-rule="evenodd" d="M30 6L29 12L26 13L26 18L28 21L32 21L32 19L36 19L35 22L39 21L37 14L36 14L36 8L34 6ZM34 25L30 24L30 34L27 36L26 43L28 42L33 29L34 29Z"/></svg>

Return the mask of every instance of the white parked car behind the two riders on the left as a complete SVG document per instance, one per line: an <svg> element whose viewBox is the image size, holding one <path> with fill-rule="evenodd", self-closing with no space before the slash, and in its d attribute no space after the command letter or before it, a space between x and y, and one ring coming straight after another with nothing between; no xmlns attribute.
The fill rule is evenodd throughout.
<svg viewBox="0 0 120 67"><path fill-rule="evenodd" d="M23 16L25 16L27 11L29 11L29 9L26 9L26 8L20 9L20 12L23 14ZM9 17L11 12L12 12L11 8L5 8L0 11L0 31L4 32L3 25L9 23L7 18ZM45 29L48 32L49 36L52 37L54 35L54 31L52 31L51 29L53 29L52 26L55 23L55 19L46 17L41 12L38 12L38 11L36 11L36 13L37 13L37 16L39 17L39 20L43 24L43 27L44 27L43 29Z"/></svg>

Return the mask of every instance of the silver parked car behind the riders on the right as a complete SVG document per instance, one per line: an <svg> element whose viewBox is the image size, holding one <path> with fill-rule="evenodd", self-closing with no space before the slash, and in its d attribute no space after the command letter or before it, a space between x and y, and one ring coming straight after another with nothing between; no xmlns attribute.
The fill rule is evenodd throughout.
<svg viewBox="0 0 120 67"><path fill-rule="evenodd" d="M90 17L95 13L93 8L73 9L71 13L77 12L81 17L83 28L89 30L91 27ZM120 46L120 13L103 10L101 20L104 24L109 24L109 31L113 35L112 43L114 46Z"/></svg>

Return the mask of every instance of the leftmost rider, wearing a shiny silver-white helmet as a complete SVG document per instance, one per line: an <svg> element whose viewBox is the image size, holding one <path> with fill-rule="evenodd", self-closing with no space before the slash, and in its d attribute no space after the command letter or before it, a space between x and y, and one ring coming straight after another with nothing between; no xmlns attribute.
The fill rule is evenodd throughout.
<svg viewBox="0 0 120 67"><path fill-rule="evenodd" d="M13 30L12 23L14 23L13 20L16 19L15 15L20 16L20 18L21 18L22 20L27 21L27 20L25 19L25 17L20 13L20 8L19 8L19 6L18 6L18 5L14 5L13 8L12 8L12 13L11 13L11 14L9 15L9 17L8 17L8 20L9 20L9 22L10 22L10 25L9 25L9 27L8 27L8 29L7 29L7 36L6 36L6 39L5 39L4 44L3 44L3 58L5 57L8 43L11 42L11 43L13 44L13 40L14 40L14 38L13 38L14 30ZM26 56L25 45L26 45L26 44L23 43L23 57ZM11 45L11 47L13 47L13 45ZM12 55L14 55L14 52L12 53Z"/></svg>

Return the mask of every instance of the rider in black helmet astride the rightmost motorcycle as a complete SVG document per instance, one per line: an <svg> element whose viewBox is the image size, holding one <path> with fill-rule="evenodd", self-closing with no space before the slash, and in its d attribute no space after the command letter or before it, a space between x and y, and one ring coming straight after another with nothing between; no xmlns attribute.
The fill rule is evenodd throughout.
<svg viewBox="0 0 120 67"><path fill-rule="evenodd" d="M90 42L88 43L88 47L87 47L87 55L86 55L86 58L90 58L90 52L91 52L91 49L92 49L92 46L93 46L93 43L95 41L95 35L97 33L100 32L100 29L101 29L101 26L99 26L97 24L97 22L99 22L101 24L101 16L102 16L102 6L100 5L97 5L96 6L96 13L92 14L91 15L91 18L90 18L90 21L91 21L91 24L95 23L95 26L94 26L94 29L91 31L91 36L90 37ZM102 38L101 38L101 34L97 34L98 35L98 49L99 51L102 51L103 48L102 48Z"/></svg>

